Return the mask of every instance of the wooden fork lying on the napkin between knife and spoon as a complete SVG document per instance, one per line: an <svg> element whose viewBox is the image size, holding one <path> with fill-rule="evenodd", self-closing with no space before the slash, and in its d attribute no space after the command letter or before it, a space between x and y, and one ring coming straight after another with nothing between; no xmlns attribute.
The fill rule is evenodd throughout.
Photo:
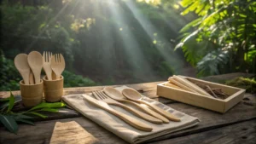
<svg viewBox="0 0 256 144"><path fill-rule="evenodd" d="M124 104L120 103L119 101L115 101L113 99L111 99L110 97L108 97L108 95L106 95L104 92L102 91L94 91L92 92L93 95L95 95L96 99L99 101L104 101L106 103L108 103L108 105L114 105L114 106L119 106L124 108L126 111L130 111L132 112L134 115L136 115L139 118L143 118L151 123L154 124L163 124L163 121L161 121L158 118L154 118L146 113L137 111L136 109L133 109L131 107L127 107Z"/></svg>

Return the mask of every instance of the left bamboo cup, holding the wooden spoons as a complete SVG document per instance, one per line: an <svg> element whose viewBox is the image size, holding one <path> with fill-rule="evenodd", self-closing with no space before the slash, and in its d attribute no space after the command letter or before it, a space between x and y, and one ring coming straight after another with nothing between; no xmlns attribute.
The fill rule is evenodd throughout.
<svg viewBox="0 0 256 144"><path fill-rule="evenodd" d="M39 84L24 84L20 81L20 94L25 107L34 107L43 101L44 84L40 79Z"/></svg>

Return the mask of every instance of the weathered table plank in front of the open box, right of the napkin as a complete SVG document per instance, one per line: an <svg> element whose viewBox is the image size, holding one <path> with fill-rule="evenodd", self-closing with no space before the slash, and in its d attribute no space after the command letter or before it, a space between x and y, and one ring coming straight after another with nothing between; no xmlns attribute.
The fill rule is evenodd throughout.
<svg viewBox="0 0 256 144"><path fill-rule="evenodd" d="M247 95L249 100L254 101L256 95ZM156 138L154 141L160 141L164 139L170 139L173 137L183 136L183 135L191 135L201 131L212 130L221 128L230 124L237 124L247 120L256 118L256 109L254 106L247 105L244 103L245 101L241 101L235 107L231 108L230 111L225 112L224 114L218 112L212 112L207 109L203 109L200 107L194 107L190 105L186 105L183 103L172 103L168 104L168 106L180 111L185 112L191 116L200 118L201 122L198 126L176 132L171 135L164 135L160 138Z"/></svg>

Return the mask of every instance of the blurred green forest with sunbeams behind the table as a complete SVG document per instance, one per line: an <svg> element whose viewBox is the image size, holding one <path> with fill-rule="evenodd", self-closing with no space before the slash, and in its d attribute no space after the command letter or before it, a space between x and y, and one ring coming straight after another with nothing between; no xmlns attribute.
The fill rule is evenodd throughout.
<svg viewBox="0 0 256 144"><path fill-rule="evenodd" d="M3 0L0 90L19 89L13 60L64 55L65 87L256 71L253 0Z"/></svg>

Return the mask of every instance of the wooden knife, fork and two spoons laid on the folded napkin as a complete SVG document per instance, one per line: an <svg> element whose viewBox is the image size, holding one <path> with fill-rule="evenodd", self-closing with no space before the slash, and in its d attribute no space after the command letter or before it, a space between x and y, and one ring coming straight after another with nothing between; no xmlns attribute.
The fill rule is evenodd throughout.
<svg viewBox="0 0 256 144"><path fill-rule="evenodd" d="M153 124L167 124L169 123L169 120L174 122L180 121L180 118L172 115L172 113L166 112L160 107L156 107L153 104L148 103L147 101L143 101L143 95L141 95L134 89L123 89L122 92L119 92L119 90L117 89L106 87L103 89L103 91L93 91L92 94L96 97L96 99L90 96L86 96L84 97L84 99L86 101L90 101L90 103L96 105L97 107L100 107L112 113L116 117L121 118L127 124L130 124L138 130L152 131L153 129L150 125L144 124L142 121L136 118L131 118L131 116L119 112L112 107L109 107L108 105L122 107L126 111L131 112L132 114L137 116L138 118L143 118L144 120ZM129 107L129 105L127 104L131 104L142 111ZM147 105L148 107L140 104Z"/></svg>

